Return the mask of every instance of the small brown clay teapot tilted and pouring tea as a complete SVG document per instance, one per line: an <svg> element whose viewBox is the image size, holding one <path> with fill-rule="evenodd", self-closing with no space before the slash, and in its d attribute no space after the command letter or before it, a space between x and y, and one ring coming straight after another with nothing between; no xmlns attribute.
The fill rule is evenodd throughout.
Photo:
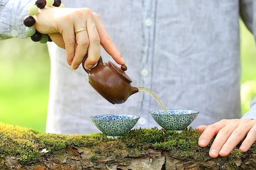
<svg viewBox="0 0 256 170"><path fill-rule="evenodd" d="M99 58L97 65L90 70L85 69L84 62L88 55L85 55L82 61L83 69L88 73L90 85L108 102L112 104L124 103L128 97L139 90L132 87L132 80L124 71L127 70L126 65L117 67L114 63L103 63Z"/></svg>

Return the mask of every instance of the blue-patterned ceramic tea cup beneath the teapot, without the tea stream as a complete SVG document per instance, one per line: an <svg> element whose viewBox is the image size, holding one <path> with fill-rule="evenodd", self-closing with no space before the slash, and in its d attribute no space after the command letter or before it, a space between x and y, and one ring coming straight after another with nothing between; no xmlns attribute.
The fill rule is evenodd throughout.
<svg viewBox="0 0 256 170"><path fill-rule="evenodd" d="M116 139L131 130L139 116L137 115L97 115L91 117L94 125L107 137Z"/></svg>

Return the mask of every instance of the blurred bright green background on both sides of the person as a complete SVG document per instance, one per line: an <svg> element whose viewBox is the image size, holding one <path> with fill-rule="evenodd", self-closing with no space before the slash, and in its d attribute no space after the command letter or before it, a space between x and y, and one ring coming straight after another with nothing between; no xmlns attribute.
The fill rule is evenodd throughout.
<svg viewBox="0 0 256 170"><path fill-rule="evenodd" d="M241 60L241 102L245 113L256 95L256 45L243 23ZM45 44L30 38L0 41L0 121L45 132L49 77Z"/></svg>

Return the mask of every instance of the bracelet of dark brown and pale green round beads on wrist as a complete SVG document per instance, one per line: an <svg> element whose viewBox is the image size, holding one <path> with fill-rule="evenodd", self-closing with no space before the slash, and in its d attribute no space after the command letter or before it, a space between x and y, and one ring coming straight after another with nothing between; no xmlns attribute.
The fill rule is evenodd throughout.
<svg viewBox="0 0 256 170"><path fill-rule="evenodd" d="M32 17L32 15L38 14L38 8L43 9L45 8L45 6L64 7L64 5L61 4L61 0L37 0L35 5L29 7L29 15L25 16L23 20L23 24L27 26L27 28L25 29L26 34L30 36L32 41L39 41L42 44L45 44L48 41L51 42L52 40L48 34L39 33L36 30L36 28L33 26L36 20L34 17Z"/></svg>

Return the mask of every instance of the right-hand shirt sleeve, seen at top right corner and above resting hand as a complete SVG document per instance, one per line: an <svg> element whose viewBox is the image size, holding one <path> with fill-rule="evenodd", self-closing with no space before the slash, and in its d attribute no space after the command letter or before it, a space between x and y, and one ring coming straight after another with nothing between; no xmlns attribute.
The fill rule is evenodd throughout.
<svg viewBox="0 0 256 170"><path fill-rule="evenodd" d="M240 0L240 16L256 40L256 1ZM242 119L256 119L256 97L250 103L250 109L243 115Z"/></svg>

